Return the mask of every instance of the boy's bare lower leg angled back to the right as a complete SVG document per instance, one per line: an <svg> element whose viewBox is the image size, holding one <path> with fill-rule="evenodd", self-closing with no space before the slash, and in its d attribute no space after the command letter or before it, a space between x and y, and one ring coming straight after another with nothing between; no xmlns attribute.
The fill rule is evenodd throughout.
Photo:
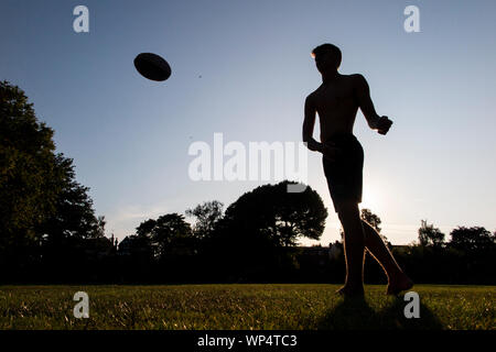
<svg viewBox="0 0 496 352"><path fill-rule="evenodd" d="M401 271L379 233L366 221L363 222L365 246L373 257L382 266L388 276L387 294L397 295L413 286L413 282Z"/></svg>

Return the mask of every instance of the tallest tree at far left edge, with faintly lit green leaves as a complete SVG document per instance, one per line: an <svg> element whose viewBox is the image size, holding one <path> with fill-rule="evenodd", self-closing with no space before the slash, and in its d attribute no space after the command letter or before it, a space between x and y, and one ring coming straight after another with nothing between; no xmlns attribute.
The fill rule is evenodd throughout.
<svg viewBox="0 0 496 352"><path fill-rule="evenodd" d="M0 82L0 251L36 244L34 228L55 212L61 177L53 130L19 87Z"/></svg>

